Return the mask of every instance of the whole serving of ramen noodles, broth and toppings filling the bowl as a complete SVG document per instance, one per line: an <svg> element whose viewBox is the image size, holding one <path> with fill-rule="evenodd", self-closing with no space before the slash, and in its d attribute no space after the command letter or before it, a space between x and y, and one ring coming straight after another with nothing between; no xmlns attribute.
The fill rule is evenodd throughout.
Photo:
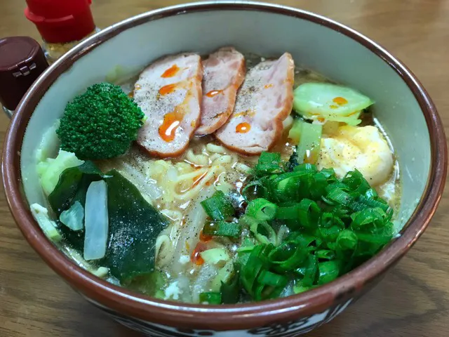
<svg viewBox="0 0 449 337"><path fill-rule="evenodd" d="M99 277L187 303L290 296L331 282L375 255L396 234L391 219L401 201L401 185L391 142L371 113L373 102L356 88L301 67L294 67L290 78L282 63L287 53L277 60L245 55L243 84L239 74L222 79L220 72L232 72L243 55L233 48L219 52L221 63L214 54L209 63L207 55L202 58L202 103L191 91L194 79L179 75L166 84L176 72L194 68L192 55L156 61L140 77L119 83L145 114L136 141L128 141L123 154L102 157L94 150L94 156L83 152L80 157L65 145L63 133L69 128L60 131L70 119L58 121L60 155L66 157L46 159L37 168L52 226L43 224L47 209L33 205L43 231ZM153 81L159 68L161 83ZM170 116L156 116L181 91L186 92L182 105L175 103ZM102 99L99 92L89 97L95 107ZM107 99L115 98L123 100L119 95ZM127 104L119 105L127 109ZM250 107L238 110L245 106ZM224 112L207 119L210 125L204 129L220 126L194 135L199 124L206 124L196 110L204 116L220 107ZM75 108L66 108L65 115ZM107 113L110 118L119 114ZM167 116L171 119L162 132ZM152 147L149 137L158 135L162 147ZM257 143L258 137L264 139ZM115 149L113 138L107 141ZM164 152L164 142L171 152ZM180 153L170 155L174 152ZM43 169L54 171L53 183ZM71 190L64 190L71 184ZM93 208L100 216L88 213Z"/></svg>

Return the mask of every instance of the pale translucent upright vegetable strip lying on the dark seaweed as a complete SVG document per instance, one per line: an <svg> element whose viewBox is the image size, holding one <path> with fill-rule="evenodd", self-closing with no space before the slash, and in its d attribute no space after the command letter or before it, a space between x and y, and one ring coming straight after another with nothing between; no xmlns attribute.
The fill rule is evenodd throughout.
<svg viewBox="0 0 449 337"><path fill-rule="evenodd" d="M84 259L98 260L105 257L109 219L107 211L107 184L94 181L86 193L84 226Z"/></svg>

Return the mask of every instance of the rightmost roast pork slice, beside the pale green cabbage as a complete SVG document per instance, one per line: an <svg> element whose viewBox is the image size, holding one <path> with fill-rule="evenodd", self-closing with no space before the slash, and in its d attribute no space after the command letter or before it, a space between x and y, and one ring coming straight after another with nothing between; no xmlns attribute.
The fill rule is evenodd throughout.
<svg viewBox="0 0 449 337"><path fill-rule="evenodd" d="M295 64L289 53L249 70L237 93L234 112L215 133L220 142L243 154L269 150L282 135L293 106Z"/></svg>

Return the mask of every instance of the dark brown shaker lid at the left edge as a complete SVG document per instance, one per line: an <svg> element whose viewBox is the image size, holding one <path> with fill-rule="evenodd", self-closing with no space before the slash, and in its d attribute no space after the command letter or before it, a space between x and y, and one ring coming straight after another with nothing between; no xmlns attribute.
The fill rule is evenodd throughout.
<svg viewBox="0 0 449 337"><path fill-rule="evenodd" d="M31 37L0 39L0 103L15 110L22 96L47 67L41 46Z"/></svg>

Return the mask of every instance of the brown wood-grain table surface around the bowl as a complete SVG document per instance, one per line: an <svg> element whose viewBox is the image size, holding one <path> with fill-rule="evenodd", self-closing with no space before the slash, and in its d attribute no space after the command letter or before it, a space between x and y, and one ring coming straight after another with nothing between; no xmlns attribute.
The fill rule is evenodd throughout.
<svg viewBox="0 0 449 337"><path fill-rule="evenodd" d="M92 9L97 25L107 27L131 15L182 2L187 1L94 0ZM382 44L420 78L449 134L449 0L272 2L326 15ZM25 1L0 0L0 37L39 39L23 8ZM1 139L7 128L8 119L1 114ZM448 189L429 229L410 253L373 291L308 336L449 336L447 216ZM15 226L3 192L0 219L1 337L140 336L86 303L43 263Z"/></svg>

